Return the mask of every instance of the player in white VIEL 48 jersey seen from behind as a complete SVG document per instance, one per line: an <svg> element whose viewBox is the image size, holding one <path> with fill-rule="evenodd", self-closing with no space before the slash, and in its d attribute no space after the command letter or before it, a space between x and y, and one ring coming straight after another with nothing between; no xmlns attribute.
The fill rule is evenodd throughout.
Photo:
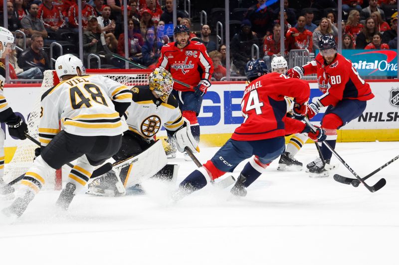
<svg viewBox="0 0 399 265"><path fill-rule="evenodd" d="M82 62L70 54L58 57L55 69L62 82L41 97L41 154L20 181L23 195L2 210L6 216L20 216L49 174L77 159L56 202L67 209L95 167L119 150L127 130L120 115L132 100L130 89L99 75L85 76Z"/></svg>

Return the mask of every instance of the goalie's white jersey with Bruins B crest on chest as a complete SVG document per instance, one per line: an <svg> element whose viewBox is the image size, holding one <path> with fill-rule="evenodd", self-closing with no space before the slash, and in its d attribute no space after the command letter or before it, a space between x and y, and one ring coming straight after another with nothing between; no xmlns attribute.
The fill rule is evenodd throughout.
<svg viewBox="0 0 399 265"><path fill-rule="evenodd" d="M162 128L176 131L184 120L177 99L170 95L168 102L155 98L149 86L136 86L131 89L133 101L126 111L129 130L152 140Z"/></svg>

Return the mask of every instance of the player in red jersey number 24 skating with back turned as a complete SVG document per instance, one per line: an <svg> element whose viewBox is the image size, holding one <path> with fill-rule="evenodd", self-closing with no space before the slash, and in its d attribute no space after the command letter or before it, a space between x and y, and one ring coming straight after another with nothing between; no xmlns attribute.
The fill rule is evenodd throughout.
<svg viewBox="0 0 399 265"><path fill-rule="evenodd" d="M241 101L244 121L212 159L180 183L174 199L180 199L204 187L208 181L226 172L233 172L239 163L249 158L249 162L231 188L234 195L245 196L245 188L284 152L284 135L287 134L285 96L295 98L296 104L302 106L309 99L310 88L307 82L298 82L299 80L288 78L277 71L265 75L266 73L267 67L263 61L249 61L246 64L245 75L250 83L245 88ZM303 123L299 123L300 129L296 132L305 128ZM323 140L323 131L320 128L310 135Z"/></svg>

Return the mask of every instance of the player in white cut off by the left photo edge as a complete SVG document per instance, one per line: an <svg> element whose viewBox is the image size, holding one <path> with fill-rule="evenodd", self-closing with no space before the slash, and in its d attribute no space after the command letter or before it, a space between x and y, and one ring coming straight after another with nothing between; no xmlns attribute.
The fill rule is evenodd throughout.
<svg viewBox="0 0 399 265"><path fill-rule="evenodd" d="M11 53L15 48L14 36L12 33L3 27L0 27L0 58ZM10 136L18 139L25 139L25 133L28 132L26 123L21 117L15 115L7 100L3 95L3 87L5 82L5 66L0 62L0 122L5 122L8 125L8 132ZM4 176L4 131L0 128L0 195L7 194L14 191L12 186L6 185L3 181Z"/></svg>

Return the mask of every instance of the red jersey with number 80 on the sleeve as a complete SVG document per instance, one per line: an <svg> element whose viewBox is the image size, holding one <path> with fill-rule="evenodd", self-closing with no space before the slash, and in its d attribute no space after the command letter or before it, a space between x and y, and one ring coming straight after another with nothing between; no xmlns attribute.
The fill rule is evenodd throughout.
<svg viewBox="0 0 399 265"><path fill-rule="evenodd" d="M329 65L319 53L303 69L304 75L317 74L319 89L324 93L319 97L323 106L335 106L346 98L364 101L374 97L370 85L359 76L352 62L339 53Z"/></svg>

